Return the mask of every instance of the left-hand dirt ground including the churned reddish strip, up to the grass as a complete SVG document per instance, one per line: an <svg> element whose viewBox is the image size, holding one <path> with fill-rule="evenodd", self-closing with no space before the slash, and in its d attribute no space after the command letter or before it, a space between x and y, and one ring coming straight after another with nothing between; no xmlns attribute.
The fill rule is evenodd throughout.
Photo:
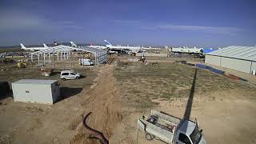
<svg viewBox="0 0 256 144"><path fill-rule="evenodd" d="M1 72L1 78L9 82L20 78L49 79L38 75L37 70L23 70ZM89 134L82 126L82 118L90 111L93 114L88 125L111 138L115 126L122 122L113 66L77 71L84 78L60 80L64 99L53 106L2 98L0 143L98 143L98 140L87 138ZM19 75L21 73L25 74ZM58 79L56 73L50 78Z"/></svg>

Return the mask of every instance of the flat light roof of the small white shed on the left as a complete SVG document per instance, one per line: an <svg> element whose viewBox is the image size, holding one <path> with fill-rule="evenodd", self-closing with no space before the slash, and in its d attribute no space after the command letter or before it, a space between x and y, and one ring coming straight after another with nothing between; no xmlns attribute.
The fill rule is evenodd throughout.
<svg viewBox="0 0 256 144"><path fill-rule="evenodd" d="M54 82L57 82L57 80L21 79L17 82L13 82L12 84L51 85Z"/></svg>

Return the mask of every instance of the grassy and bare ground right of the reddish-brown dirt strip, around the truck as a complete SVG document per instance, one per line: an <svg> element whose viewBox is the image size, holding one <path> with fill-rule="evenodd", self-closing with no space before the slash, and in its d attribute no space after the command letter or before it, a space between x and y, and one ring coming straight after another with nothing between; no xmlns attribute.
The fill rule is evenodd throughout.
<svg viewBox="0 0 256 144"><path fill-rule="evenodd" d="M113 143L162 143L146 141L136 119L151 109L183 118L194 68L178 63L130 63L115 70L115 77L122 91L123 121ZM208 143L255 143L255 102L254 86L198 70L190 119L198 118Z"/></svg>

